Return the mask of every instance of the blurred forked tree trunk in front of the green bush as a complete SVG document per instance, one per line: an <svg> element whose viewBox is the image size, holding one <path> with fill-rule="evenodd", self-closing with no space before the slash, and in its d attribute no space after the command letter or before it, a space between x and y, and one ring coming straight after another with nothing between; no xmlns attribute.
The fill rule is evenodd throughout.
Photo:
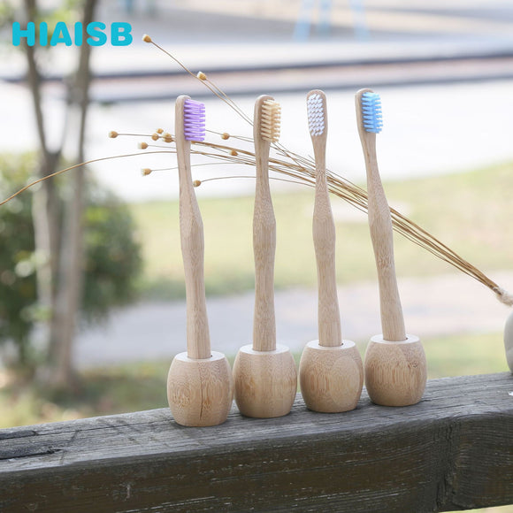
<svg viewBox="0 0 513 513"><path fill-rule="evenodd" d="M34 21L35 27L39 27L39 23L44 20L51 29L57 20L69 24L80 20L85 41L88 37L85 29L95 18L97 4L97 0L65 0L53 9L44 3L43 10L37 0L22 0L21 3L12 1L9 12L11 19L18 20L21 27L25 27L29 21ZM38 41L37 34L35 40ZM57 171L65 147L73 147L73 155L68 155L68 159L77 163L84 160L88 90L91 81L91 46L82 44L80 47L68 49L70 53L78 52L78 65L76 71L63 81L66 105L62 119L62 137L57 146L51 146L46 126L48 118L55 118L55 114L43 109L43 73L39 65L42 60L40 54L51 52L51 47L28 46L26 41L24 43L19 48L24 51L27 61L27 86L33 100L39 139L37 175L42 178ZM73 379L73 337L82 287L85 172L83 169L73 172L68 195L57 194L54 180L42 182L42 187L34 195L32 203L34 241L38 255L38 302L42 310L49 314L43 330L48 357L41 366L39 377L57 387L68 386Z"/></svg>

